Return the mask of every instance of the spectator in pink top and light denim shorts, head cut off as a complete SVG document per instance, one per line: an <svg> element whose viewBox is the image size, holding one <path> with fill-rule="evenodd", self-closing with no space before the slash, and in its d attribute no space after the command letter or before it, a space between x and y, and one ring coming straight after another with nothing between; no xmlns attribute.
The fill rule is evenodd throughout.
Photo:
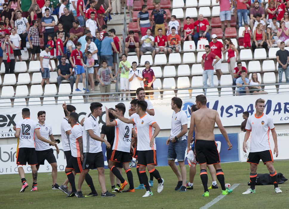
<svg viewBox="0 0 289 209"><path fill-rule="evenodd" d="M230 0L216 0L216 3L220 2L220 19L222 21L222 31L225 30L225 21L227 22L227 27L230 26L231 21L231 9L233 7L233 1Z"/></svg>

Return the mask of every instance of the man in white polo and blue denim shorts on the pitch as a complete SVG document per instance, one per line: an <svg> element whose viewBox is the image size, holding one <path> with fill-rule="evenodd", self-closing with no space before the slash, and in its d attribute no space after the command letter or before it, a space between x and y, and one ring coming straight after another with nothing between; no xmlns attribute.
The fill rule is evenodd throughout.
<svg viewBox="0 0 289 209"><path fill-rule="evenodd" d="M188 117L187 114L181 110L183 101L178 97L171 99L171 109L174 110L171 116L171 135L166 141L168 148L168 164L171 170L174 171L178 178L178 183L175 191L185 192L186 188L186 167L185 155L187 148L186 133L188 131ZM181 173L174 162L178 160Z"/></svg>

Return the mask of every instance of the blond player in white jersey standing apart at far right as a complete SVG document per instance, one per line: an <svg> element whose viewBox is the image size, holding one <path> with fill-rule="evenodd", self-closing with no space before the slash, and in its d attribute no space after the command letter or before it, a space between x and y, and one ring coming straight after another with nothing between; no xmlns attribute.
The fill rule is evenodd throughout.
<svg viewBox="0 0 289 209"><path fill-rule="evenodd" d="M243 142L243 151L247 153L247 140L249 139L251 132L251 146L250 153L247 158L247 162L250 163L250 188L247 191L243 192L243 194L252 194L256 193L255 184L257 178L257 167L260 159L267 166L267 169L270 172L271 182L274 185L276 193L282 193L280 188L278 187L278 179L275 168L273 167L273 156L271 147L269 144L269 130L271 130L273 141L274 141L274 154L276 153L276 157L278 156L278 146L277 146L277 134L275 130L275 126L273 123L273 119L268 115L264 114L265 109L265 100L257 99L255 102L256 113L251 115L246 124L246 133Z"/></svg>

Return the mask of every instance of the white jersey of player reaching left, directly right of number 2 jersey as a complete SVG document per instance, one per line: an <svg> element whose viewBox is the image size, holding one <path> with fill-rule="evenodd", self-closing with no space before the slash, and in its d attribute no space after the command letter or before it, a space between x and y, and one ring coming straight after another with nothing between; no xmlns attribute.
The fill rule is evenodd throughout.
<svg viewBox="0 0 289 209"><path fill-rule="evenodd" d="M154 118L149 114L145 114L143 117L138 116L132 120L137 127L137 150L157 150L155 141L152 147L149 146L154 134L154 128L152 127L155 123Z"/></svg>

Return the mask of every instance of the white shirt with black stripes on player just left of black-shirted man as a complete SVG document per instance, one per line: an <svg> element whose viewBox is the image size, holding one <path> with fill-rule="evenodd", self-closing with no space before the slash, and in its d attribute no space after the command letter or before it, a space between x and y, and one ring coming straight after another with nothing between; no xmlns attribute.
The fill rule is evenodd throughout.
<svg viewBox="0 0 289 209"><path fill-rule="evenodd" d="M93 133L96 136L100 137L100 127L98 125L98 122L95 117L90 115L87 119L84 121L83 126L83 152L89 152L89 153L98 153L102 151L101 148L101 142L97 141L95 139L92 139L89 136L88 130L93 130Z"/></svg>

